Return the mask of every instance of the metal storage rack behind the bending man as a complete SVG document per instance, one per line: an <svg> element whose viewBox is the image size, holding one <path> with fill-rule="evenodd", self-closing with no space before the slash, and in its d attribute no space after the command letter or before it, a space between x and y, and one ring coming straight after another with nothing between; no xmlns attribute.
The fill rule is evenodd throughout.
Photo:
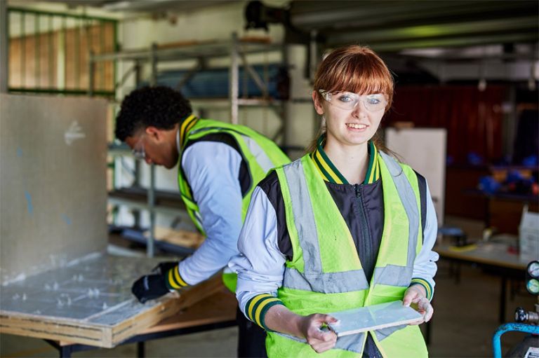
<svg viewBox="0 0 539 358"><path fill-rule="evenodd" d="M178 62L180 60L196 60L196 64L187 71L182 81L178 83L178 88L182 86L183 83L189 81L189 78L201 68L205 67L206 59L210 58L229 58L229 97L222 99L196 99L194 102L203 103L206 108L215 108L222 106L229 106L230 108L230 122L234 124L239 123L239 109L241 107L248 106L258 106L258 107L267 107L277 113L278 118L281 123L279 130L272 137L272 139L277 139L281 137L283 141L286 139L286 102L284 100L272 99L267 95L267 84L265 81L260 78L260 76L253 70L251 65L248 63L248 55L256 53L268 53L268 52L279 52L281 53L281 62L286 64L288 57L286 54L286 46L283 46L281 43L265 43L260 40L255 41L245 41L240 40L236 33L232 34L232 38L228 41L215 41L215 42L204 42L204 43L191 43L188 45L175 46L175 47L159 47L157 44L152 44L150 48L142 50L124 50L118 51L115 53L105 53L100 55L90 54L90 59L88 61L88 73L92 79L92 74L95 71L95 65L101 61L107 60L116 60L116 61L128 61L133 62L133 66L129 68L124 75L120 78L118 83L115 83L114 90L118 90L124 85L127 79L134 75L135 76L135 85L141 83L141 69L143 64L149 64L149 85L157 84L157 64L159 62ZM255 84L262 92L261 98L247 98L240 97L239 95L239 67L240 62L243 64L246 73L253 79ZM92 96L94 94L94 84L93 81L90 81L88 86L88 95ZM128 148L125 145L122 146L109 146L109 153L113 156L125 156L129 153ZM113 191L109 193L109 203L113 205L128 205L135 209L143 209L149 212L149 235L147 237L147 256L154 256L154 246L155 246L155 221L157 212L169 212L177 214L180 217L187 218L187 212L185 211L185 206L182 203L181 197L178 194L177 200L178 204L173 205L173 207L166 207L164 205L159 205L159 193L155 188L155 167L150 165L149 170L149 186L145 193L138 195L138 198L126 198L126 195L121 195L119 191ZM140 174L140 161L135 160L135 185L138 185L138 177ZM132 194L132 193L131 193ZM168 195L170 197L170 195ZM145 204L141 201L141 198L146 198ZM143 199L142 199L143 200Z"/></svg>

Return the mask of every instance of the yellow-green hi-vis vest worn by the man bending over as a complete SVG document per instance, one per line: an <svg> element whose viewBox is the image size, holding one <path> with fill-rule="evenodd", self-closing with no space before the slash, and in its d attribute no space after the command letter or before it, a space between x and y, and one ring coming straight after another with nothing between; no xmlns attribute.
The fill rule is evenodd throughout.
<svg viewBox="0 0 539 358"><path fill-rule="evenodd" d="M251 181L241 205L241 220L244 221L249 201L251 200L251 194L253 193L255 186L260 180L265 178L270 169L290 163L290 159L288 159L281 149L279 149L277 144L251 128L247 128L244 125L231 125L229 123L212 121L209 119L198 119L191 130L185 134L180 146L184 149L189 141L215 133L227 133L234 138L238 144L241 158L248 167L248 174ZM202 227L199 206L194 202L189 183L187 183L187 180L183 177L181 169L183 153L184 151L182 150L178 169L178 185L180 186L180 193L183 202L185 202L185 206L187 207L187 212L189 213L189 216L191 216L195 226L197 226L203 235L206 235L204 233L204 228ZM231 273L228 268L225 268L223 282L231 291L236 290L236 281L237 275Z"/></svg>

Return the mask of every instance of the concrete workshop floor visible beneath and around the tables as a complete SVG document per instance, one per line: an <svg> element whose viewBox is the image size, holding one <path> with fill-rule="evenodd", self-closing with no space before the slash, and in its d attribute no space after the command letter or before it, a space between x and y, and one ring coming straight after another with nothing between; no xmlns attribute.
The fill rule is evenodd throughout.
<svg viewBox="0 0 539 358"><path fill-rule="evenodd" d="M454 223L454 221L453 221ZM476 225L477 226L477 225ZM470 231L473 233L473 226ZM480 231L480 230L479 230ZM434 292L434 317L430 322L431 357L492 357L492 336L498 322L500 278L481 268L461 266L460 283L449 273L449 263L439 261ZM537 298L525 290L511 299L507 290L506 321L512 322L514 308L534 310ZM425 327L422 327L425 331ZM524 338L523 333L506 333L503 351ZM227 328L194 333L146 343L147 357L235 357L237 329ZM0 357L58 357L43 340L0 335ZM76 352L73 357L136 357L136 345L112 350Z"/></svg>

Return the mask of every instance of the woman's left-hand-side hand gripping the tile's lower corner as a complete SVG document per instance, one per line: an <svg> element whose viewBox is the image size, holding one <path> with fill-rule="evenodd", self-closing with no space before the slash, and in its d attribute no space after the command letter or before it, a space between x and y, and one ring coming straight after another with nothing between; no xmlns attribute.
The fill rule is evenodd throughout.
<svg viewBox="0 0 539 358"><path fill-rule="evenodd" d="M300 320L300 331L303 336L305 336L307 343L311 345L314 352L322 353L335 347L335 343L337 342L337 335L335 332L328 329L323 330L321 327L337 321L337 319L330 315L322 315L320 313L302 317Z"/></svg>

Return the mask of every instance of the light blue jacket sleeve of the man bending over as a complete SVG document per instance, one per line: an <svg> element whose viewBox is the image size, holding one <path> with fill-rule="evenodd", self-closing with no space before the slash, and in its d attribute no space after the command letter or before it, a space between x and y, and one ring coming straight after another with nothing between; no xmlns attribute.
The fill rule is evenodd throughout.
<svg viewBox="0 0 539 358"><path fill-rule="evenodd" d="M204 281L227 266L238 254L241 230L241 156L228 144L197 142L182 156L182 169L200 209L206 240L194 254L180 262L187 284Z"/></svg>

